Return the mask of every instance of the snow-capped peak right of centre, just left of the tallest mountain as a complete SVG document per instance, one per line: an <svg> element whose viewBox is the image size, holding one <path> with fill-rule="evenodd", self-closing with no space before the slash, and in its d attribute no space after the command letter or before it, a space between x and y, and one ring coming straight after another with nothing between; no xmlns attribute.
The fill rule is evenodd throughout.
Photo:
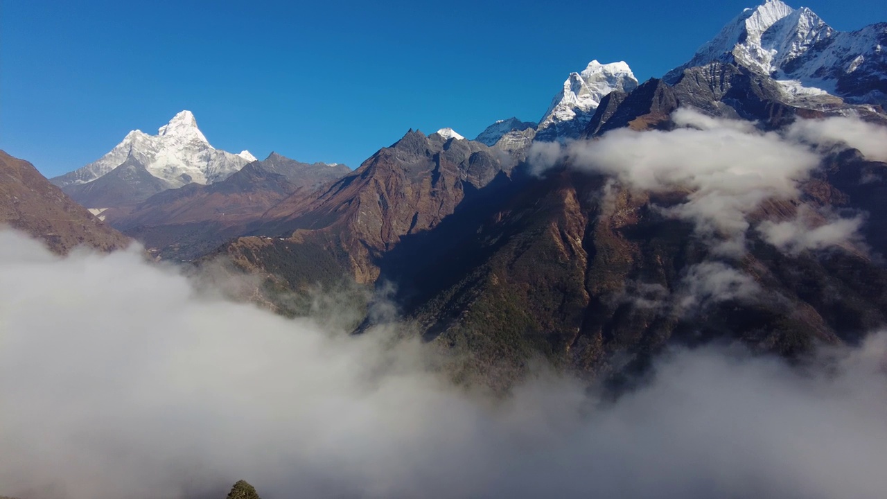
<svg viewBox="0 0 887 499"><path fill-rule="evenodd" d="M594 110L611 91L632 91L638 87L632 68L624 61L588 63L580 73L570 73L563 89L554 96L546 114L539 121L537 139L578 137L591 121Z"/></svg>

